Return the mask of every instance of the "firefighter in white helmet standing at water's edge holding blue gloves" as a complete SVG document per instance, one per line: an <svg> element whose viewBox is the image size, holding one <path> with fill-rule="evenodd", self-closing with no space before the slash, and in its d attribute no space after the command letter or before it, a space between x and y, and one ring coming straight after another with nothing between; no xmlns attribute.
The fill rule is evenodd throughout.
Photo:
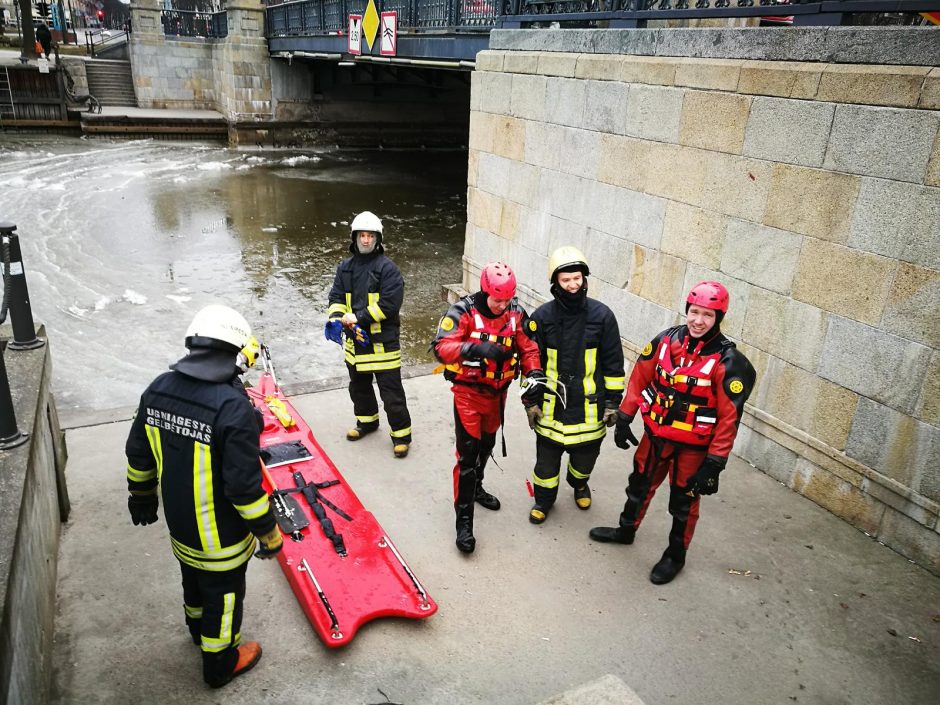
<svg viewBox="0 0 940 705"><path fill-rule="evenodd" d="M336 268L328 311L329 319L341 321L348 331L344 350L356 427L346 433L346 438L358 441L379 428L379 404L372 389L374 376L391 427L392 451L396 458L404 458L411 444L411 415L401 384L398 317L405 280L384 254L382 221L375 214L363 211L357 215L350 231L352 257ZM356 342L355 326L368 335L368 344Z"/></svg>

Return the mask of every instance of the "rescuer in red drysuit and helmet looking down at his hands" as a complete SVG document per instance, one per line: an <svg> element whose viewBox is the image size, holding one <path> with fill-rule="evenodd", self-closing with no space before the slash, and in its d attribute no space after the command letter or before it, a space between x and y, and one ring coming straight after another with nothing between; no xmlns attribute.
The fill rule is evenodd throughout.
<svg viewBox="0 0 940 705"><path fill-rule="evenodd" d="M457 436L454 510L457 548L463 553L473 553L476 547L474 501L494 511L500 506L499 500L483 489L483 471L496 444L509 385L520 370L526 376L542 375L528 316L515 296L516 277L509 266L487 264L480 275L480 291L448 309L431 343L445 366L445 378L453 382ZM531 393L536 389L533 386Z"/></svg>

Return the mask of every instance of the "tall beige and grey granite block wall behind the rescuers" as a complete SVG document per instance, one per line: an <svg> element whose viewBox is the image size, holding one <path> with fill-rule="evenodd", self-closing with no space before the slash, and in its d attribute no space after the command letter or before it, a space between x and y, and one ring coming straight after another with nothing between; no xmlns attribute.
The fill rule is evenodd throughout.
<svg viewBox="0 0 940 705"><path fill-rule="evenodd" d="M755 31L495 33L463 286L502 259L535 306L576 245L635 359L723 282L758 370L736 452L940 574L940 39Z"/></svg>

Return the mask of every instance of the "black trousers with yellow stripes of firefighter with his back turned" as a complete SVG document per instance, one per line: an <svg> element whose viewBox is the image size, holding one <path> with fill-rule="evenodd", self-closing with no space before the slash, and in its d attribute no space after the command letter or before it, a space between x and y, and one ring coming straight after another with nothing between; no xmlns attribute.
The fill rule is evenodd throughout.
<svg viewBox="0 0 940 705"><path fill-rule="evenodd" d="M218 572L180 563L186 626L202 648L202 677L210 685L224 680L238 662L247 571L247 561Z"/></svg>

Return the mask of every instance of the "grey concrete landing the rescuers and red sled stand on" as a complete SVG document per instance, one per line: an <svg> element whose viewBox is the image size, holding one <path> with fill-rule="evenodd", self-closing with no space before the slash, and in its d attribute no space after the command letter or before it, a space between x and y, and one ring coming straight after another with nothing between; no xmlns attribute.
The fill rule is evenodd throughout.
<svg viewBox="0 0 940 705"><path fill-rule="evenodd" d="M377 620L330 650L278 565L253 561L242 631L262 642L264 658L221 691L201 681L162 510L149 527L127 516L129 423L70 430L52 702L533 705L616 682L599 680L606 674L646 705L936 702L940 580L740 460L703 500L686 569L670 585L647 578L666 544L665 491L633 546L587 538L591 526L616 523L623 503L630 455L612 439L590 511L575 507L562 481L549 520L529 524L535 444L515 388L509 456L497 453L504 470L487 468L503 508L477 509L477 551L463 556L454 547L448 385L424 376L405 389L415 444L404 460L384 432L344 439L345 387L292 401L437 614ZM594 688L596 699L580 702L625 702L615 691Z"/></svg>

